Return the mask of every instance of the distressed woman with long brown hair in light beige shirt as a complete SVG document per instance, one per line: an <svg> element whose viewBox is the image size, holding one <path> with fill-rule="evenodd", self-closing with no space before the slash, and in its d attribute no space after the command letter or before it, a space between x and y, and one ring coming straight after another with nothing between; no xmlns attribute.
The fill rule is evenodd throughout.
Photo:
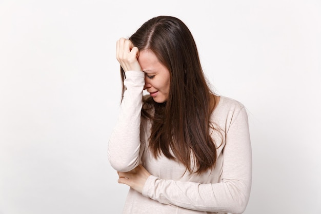
<svg viewBox="0 0 321 214"><path fill-rule="evenodd" d="M211 92L187 26L154 17L117 41L116 58L124 84L108 159L131 187L123 213L242 213L252 177L247 113Z"/></svg>

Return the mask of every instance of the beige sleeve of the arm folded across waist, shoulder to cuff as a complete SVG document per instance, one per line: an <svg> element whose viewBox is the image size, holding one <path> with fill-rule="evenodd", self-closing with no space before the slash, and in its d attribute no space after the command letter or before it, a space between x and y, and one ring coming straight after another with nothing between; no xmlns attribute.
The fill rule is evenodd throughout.
<svg viewBox="0 0 321 214"><path fill-rule="evenodd" d="M250 196L252 153L246 110L243 107L234 113L225 131L223 171L219 183L200 184L150 176L143 195L187 209L242 213Z"/></svg>

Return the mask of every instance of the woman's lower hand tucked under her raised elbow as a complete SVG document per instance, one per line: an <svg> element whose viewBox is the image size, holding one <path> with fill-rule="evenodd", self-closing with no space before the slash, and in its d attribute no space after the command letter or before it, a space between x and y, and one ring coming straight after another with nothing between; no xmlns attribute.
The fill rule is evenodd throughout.
<svg viewBox="0 0 321 214"><path fill-rule="evenodd" d="M119 184L126 184L142 193L146 180L151 175L141 164L129 172L117 172Z"/></svg>

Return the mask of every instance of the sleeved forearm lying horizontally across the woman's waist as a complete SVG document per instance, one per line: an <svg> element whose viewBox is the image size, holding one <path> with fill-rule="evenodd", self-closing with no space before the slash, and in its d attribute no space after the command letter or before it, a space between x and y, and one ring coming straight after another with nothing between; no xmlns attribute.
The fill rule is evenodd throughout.
<svg viewBox="0 0 321 214"><path fill-rule="evenodd" d="M242 213L249 199L250 185L242 181L199 184L162 180L150 176L143 195L160 203L210 212Z"/></svg>

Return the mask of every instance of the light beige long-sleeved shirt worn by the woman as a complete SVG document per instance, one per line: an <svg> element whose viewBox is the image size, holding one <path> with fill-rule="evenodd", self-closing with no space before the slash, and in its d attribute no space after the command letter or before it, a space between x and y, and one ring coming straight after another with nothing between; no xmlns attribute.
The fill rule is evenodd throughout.
<svg viewBox="0 0 321 214"><path fill-rule="evenodd" d="M211 115L213 123L222 129L222 135L212 132L218 147L215 168L200 175L184 173L183 164L164 155L155 159L149 151L151 122L141 118L144 78L144 72L126 71L126 91L108 144L108 159L115 170L130 171L142 164L152 174L143 194L129 190L123 213L242 213L249 200L252 178L244 106L220 96Z"/></svg>

